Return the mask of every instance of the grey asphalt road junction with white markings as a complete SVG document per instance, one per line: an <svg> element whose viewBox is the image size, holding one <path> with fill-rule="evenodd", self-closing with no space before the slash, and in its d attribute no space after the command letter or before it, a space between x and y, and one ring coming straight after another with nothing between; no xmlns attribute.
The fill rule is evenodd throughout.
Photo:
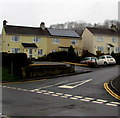
<svg viewBox="0 0 120 118"><path fill-rule="evenodd" d="M103 87L104 82L118 76L118 66L92 70L73 76L3 84L2 112L8 116L118 116L120 102Z"/></svg>

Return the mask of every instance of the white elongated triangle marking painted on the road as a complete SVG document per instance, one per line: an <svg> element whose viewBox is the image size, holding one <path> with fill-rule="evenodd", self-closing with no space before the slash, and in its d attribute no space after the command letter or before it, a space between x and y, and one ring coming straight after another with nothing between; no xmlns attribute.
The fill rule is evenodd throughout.
<svg viewBox="0 0 120 118"><path fill-rule="evenodd" d="M68 88L68 89L73 89L75 87L78 87L80 85L83 85L89 81L92 81L92 79L88 79L88 80L84 80L84 81L78 81L78 82L73 82L73 83L69 83L69 84L66 84L66 85L61 85L61 86L58 86L59 88Z"/></svg>

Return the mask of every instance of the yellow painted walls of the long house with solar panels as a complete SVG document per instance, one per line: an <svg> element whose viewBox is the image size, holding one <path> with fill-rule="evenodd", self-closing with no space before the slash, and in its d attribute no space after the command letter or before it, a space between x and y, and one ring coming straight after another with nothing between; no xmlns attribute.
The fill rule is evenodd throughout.
<svg viewBox="0 0 120 118"><path fill-rule="evenodd" d="M78 45L73 45L73 48L78 50L78 52L82 49L82 41L80 38L64 38L64 37L45 37L45 36L28 36L28 35L20 35L20 41L19 42L13 42L12 36L17 35L6 35L5 30L3 29L3 37L2 37L2 52L12 52L12 48L20 48L20 52L26 53L29 57L29 48L24 48L22 46L22 43L34 43L33 39L34 37L38 37L42 39L42 42L35 43L38 47L38 49L43 50L43 55L50 53L52 50L58 51L59 46L63 47L69 47L71 45L71 40L78 40ZM19 35L18 35L19 36ZM60 39L60 44L53 44L52 39ZM38 58L42 55L38 55L38 49L33 48L32 49L32 57Z"/></svg>

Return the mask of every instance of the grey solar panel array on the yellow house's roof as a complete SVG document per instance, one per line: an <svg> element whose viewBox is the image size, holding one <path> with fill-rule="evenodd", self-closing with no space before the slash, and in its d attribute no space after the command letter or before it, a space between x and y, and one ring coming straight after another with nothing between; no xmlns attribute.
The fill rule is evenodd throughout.
<svg viewBox="0 0 120 118"><path fill-rule="evenodd" d="M80 37L74 30L48 29L48 31L52 36Z"/></svg>

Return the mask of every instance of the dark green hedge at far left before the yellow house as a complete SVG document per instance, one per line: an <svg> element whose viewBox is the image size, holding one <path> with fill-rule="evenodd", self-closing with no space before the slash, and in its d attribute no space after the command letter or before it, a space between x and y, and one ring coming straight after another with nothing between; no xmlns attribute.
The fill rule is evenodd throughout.
<svg viewBox="0 0 120 118"><path fill-rule="evenodd" d="M22 68L31 64L25 53L2 53L2 67L8 69L11 76L22 76Z"/></svg>

